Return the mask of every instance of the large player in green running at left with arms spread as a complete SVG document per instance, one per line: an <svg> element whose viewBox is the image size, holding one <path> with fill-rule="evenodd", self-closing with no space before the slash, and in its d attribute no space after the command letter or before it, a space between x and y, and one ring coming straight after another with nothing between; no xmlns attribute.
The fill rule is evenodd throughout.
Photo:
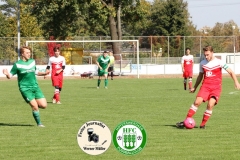
<svg viewBox="0 0 240 160"><path fill-rule="evenodd" d="M40 119L39 108L45 109L47 101L38 86L36 75L44 76L49 74L49 71L38 72L36 70L35 60L30 58L31 50L29 47L21 47L20 53L21 59L13 64L10 73L7 69L3 69L3 74L8 79L17 75L19 91L23 99L31 106L37 126L44 127Z"/></svg>

